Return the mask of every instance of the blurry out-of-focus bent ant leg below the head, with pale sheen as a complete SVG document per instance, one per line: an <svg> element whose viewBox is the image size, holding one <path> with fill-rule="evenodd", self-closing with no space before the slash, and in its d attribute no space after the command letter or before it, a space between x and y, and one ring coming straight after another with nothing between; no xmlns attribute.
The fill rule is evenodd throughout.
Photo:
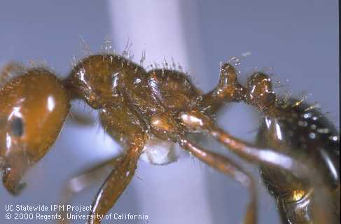
<svg viewBox="0 0 341 224"><path fill-rule="evenodd" d="M67 204L71 201L71 198L74 194L80 193L93 184L102 181L102 177L104 175L109 175L109 169L116 169L119 162L120 157L111 158L110 160L106 160L99 165L95 165L95 167L90 167L82 174L78 174L74 178L69 179L67 181L67 185L62 190L63 193L61 204ZM62 216L62 218L60 219L60 223L68 223L67 213L65 209L60 211L60 215Z"/></svg>

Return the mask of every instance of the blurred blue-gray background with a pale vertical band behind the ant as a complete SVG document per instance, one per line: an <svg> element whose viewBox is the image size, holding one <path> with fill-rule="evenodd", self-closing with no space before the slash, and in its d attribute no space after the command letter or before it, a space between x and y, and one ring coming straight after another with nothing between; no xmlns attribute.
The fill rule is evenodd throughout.
<svg viewBox="0 0 341 224"><path fill-rule="evenodd" d="M65 77L73 55L82 57L85 45L80 36L93 52L100 50L104 38L122 51L129 37L137 62L140 49L146 50L150 62L162 61L160 55L173 56L198 86L209 90L218 79L219 62L251 52L239 66L241 80L255 67L272 67L267 69L272 78L285 85L277 91L308 95L309 102L319 102L338 124L337 18L337 1L331 0L1 1L0 63L46 62ZM83 105L80 108L91 112ZM257 118L249 107L232 105L218 123L252 141ZM50 153L27 176L29 184L22 195L12 197L0 188L1 223L29 223L6 221L5 204L56 204L67 177L108 158L117 148L99 125L79 127L68 120ZM223 152L223 148L216 150ZM167 167L139 162L137 176L112 212L144 213L149 221L119 223L234 224L242 220L246 190L186 155ZM100 184L76 195L72 204L90 204ZM274 202L259 188L260 223L277 223Z"/></svg>

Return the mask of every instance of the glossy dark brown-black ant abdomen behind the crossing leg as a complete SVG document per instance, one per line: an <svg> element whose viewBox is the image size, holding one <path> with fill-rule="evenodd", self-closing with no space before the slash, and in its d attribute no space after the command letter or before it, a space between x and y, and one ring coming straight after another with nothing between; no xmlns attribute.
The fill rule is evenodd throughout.
<svg viewBox="0 0 341 224"><path fill-rule="evenodd" d="M260 147L298 155L307 165L321 172L319 181L327 186L328 193L337 191L340 184L339 135L314 106L293 99L276 104L265 116L257 141ZM319 183L299 179L291 172L273 167L260 166L260 172L265 186L279 204L285 223L300 223L302 217L306 217L305 221L312 220L312 189ZM328 198L330 201L326 204L336 204L331 202L336 197Z"/></svg>

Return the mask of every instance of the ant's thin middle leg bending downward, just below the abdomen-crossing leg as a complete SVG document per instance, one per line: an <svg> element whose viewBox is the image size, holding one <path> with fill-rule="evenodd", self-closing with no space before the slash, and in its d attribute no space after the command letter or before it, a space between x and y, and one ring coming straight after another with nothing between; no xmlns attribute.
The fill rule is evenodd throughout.
<svg viewBox="0 0 341 224"><path fill-rule="evenodd" d="M206 151L199 146L195 146L188 139L180 137L179 143L182 148L189 151L196 158L202 160L210 167L214 167L219 172L230 176L235 181L238 181L242 186L249 188L251 194L251 200L246 209L246 216L244 218L244 224L256 224L257 223L257 197L256 186L253 177L239 167L230 159L225 158L213 152Z"/></svg>

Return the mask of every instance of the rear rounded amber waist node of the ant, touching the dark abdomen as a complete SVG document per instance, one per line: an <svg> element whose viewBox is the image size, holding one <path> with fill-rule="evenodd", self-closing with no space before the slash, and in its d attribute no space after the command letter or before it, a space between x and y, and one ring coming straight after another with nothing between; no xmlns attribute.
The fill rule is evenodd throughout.
<svg viewBox="0 0 341 224"><path fill-rule="evenodd" d="M275 99L269 76L259 72L253 73L246 84L246 102L265 111L274 106Z"/></svg>

